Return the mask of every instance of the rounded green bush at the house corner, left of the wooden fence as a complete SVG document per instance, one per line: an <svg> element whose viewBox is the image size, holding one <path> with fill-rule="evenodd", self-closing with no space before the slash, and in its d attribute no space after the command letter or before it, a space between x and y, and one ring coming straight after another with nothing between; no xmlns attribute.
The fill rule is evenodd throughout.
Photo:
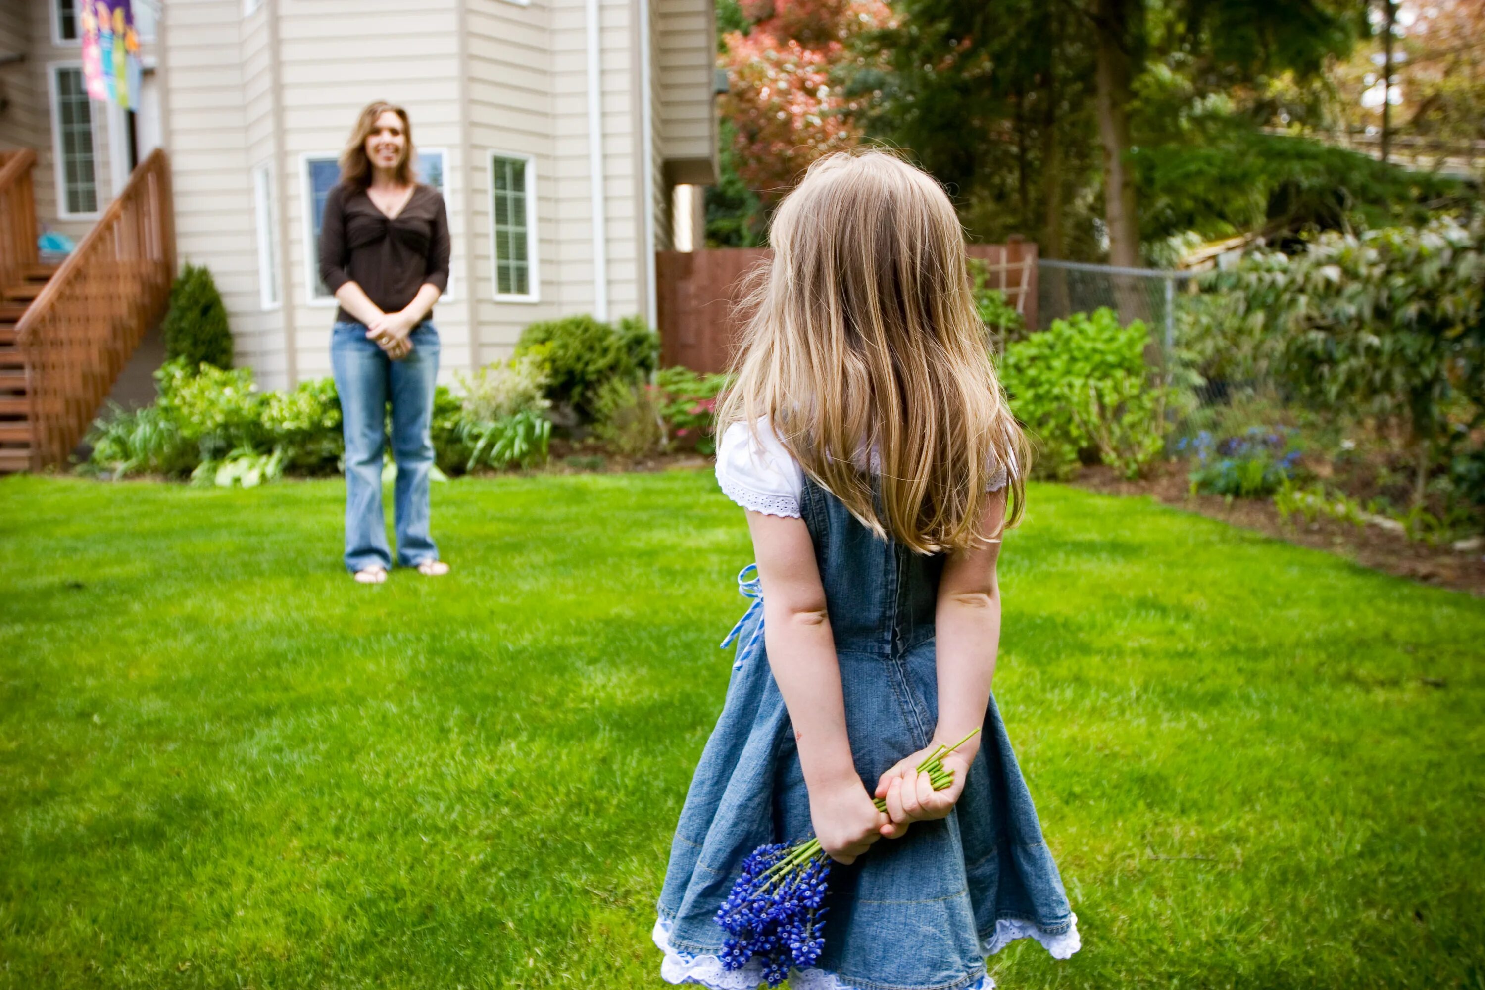
<svg viewBox="0 0 1485 990"><path fill-rule="evenodd" d="M636 383L655 370L659 335L639 318L603 324L593 316L532 324L521 331L515 356L536 347L548 374L546 398L572 410L581 422L597 419L597 393L604 381L618 378Z"/></svg>

